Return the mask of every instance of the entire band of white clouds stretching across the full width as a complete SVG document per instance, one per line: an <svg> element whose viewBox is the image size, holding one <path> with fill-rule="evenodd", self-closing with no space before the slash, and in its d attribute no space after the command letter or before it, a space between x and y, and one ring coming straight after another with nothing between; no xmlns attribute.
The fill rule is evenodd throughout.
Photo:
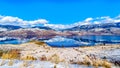
<svg viewBox="0 0 120 68"><path fill-rule="evenodd" d="M22 26L22 27L32 27L35 25L42 24L43 26L50 27L53 29L66 29L71 28L75 26L80 25L91 25L91 24L104 24L104 23L117 23L120 22L120 15L111 18L109 16L103 16L103 17L96 17L96 18L86 18L83 21L78 21L73 24L63 25L63 24L49 24L48 20L46 19L38 19L33 21L27 21L20 19L18 17L12 17L12 16L2 16L0 15L0 24L3 25L16 25L16 26Z"/></svg>

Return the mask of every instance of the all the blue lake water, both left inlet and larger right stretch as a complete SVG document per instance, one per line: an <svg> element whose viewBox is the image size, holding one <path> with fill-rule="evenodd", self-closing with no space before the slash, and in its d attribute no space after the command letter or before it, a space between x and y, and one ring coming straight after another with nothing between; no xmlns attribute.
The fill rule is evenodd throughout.
<svg viewBox="0 0 120 68"><path fill-rule="evenodd" d="M18 40L11 38L0 38L0 44L20 44L29 40ZM50 46L54 47L77 47L77 46L93 46L96 44L120 44L120 36L116 35L89 35L89 36L56 36L51 39L42 40Z"/></svg>

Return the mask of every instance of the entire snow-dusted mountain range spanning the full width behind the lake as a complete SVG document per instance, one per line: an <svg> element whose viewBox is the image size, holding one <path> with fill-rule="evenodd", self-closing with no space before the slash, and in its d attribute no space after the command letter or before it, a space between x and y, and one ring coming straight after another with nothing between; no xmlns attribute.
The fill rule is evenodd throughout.
<svg viewBox="0 0 120 68"><path fill-rule="evenodd" d="M23 28L13 25L0 25L0 37L44 38L54 36L79 35L120 35L120 22L105 24L76 25L69 29L56 30L47 26Z"/></svg>

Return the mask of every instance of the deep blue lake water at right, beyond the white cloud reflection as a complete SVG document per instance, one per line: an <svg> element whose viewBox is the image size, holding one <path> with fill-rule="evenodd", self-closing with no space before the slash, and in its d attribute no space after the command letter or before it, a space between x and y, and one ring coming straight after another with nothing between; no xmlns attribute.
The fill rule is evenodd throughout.
<svg viewBox="0 0 120 68"><path fill-rule="evenodd" d="M74 37L73 39L78 40L78 41L84 41L84 42L90 42L90 43L105 43L105 44L115 44L115 43L120 43L120 36L115 36L115 35L101 35L101 36L79 36L79 37Z"/></svg>

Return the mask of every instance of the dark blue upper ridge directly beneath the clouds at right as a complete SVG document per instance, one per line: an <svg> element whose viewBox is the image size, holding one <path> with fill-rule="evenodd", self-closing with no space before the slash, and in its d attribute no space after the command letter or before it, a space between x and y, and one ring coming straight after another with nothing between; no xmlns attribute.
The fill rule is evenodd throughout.
<svg viewBox="0 0 120 68"><path fill-rule="evenodd" d="M105 23L105 24L89 24L89 25L79 25L73 28L65 29L69 31L82 31L86 30L89 31L91 29L111 29L111 28L120 28L120 22L118 23Z"/></svg>

